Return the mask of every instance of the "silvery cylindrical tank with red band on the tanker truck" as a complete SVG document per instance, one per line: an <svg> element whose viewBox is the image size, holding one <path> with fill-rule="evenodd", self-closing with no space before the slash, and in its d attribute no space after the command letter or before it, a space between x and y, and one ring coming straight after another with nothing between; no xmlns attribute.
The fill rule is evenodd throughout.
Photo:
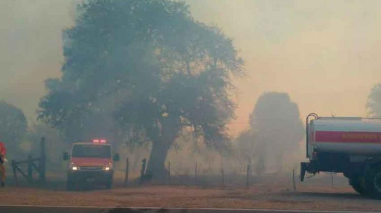
<svg viewBox="0 0 381 213"><path fill-rule="evenodd" d="M381 120L317 118L309 125L308 157L312 152L381 154Z"/></svg>

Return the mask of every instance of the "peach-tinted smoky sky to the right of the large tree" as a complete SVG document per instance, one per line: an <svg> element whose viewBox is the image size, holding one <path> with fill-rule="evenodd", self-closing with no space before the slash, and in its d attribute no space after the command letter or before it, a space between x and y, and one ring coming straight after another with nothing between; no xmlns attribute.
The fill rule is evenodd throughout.
<svg viewBox="0 0 381 213"><path fill-rule="evenodd" d="M380 79L379 1L189 0L196 18L224 29L248 77L238 85L237 135L265 91L285 91L300 113L365 116ZM345 106L345 107L343 107Z"/></svg>

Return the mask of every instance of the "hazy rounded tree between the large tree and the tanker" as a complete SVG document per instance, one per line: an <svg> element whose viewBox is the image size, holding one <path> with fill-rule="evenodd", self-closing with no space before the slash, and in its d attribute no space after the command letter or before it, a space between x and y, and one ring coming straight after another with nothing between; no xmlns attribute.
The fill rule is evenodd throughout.
<svg viewBox="0 0 381 213"><path fill-rule="evenodd" d="M264 93L250 115L250 126L256 134L260 159L273 161L278 171L283 157L298 148L304 134L298 105L287 93Z"/></svg>

